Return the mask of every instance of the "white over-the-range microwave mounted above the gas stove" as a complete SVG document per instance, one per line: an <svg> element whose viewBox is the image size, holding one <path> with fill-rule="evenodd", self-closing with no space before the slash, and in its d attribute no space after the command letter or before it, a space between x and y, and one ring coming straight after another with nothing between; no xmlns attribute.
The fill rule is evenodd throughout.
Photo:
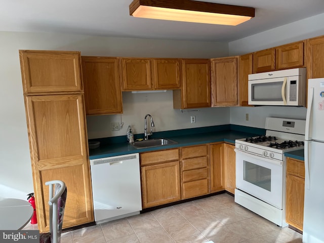
<svg viewBox="0 0 324 243"><path fill-rule="evenodd" d="M249 105L306 106L306 68L249 74Z"/></svg>

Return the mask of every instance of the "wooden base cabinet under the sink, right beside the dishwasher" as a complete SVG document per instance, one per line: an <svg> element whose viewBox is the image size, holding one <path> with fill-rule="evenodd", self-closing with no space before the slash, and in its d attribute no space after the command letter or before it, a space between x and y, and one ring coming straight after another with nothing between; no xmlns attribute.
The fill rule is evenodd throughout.
<svg viewBox="0 0 324 243"><path fill-rule="evenodd" d="M181 199L179 149L142 153L143 209Z"/></svg>

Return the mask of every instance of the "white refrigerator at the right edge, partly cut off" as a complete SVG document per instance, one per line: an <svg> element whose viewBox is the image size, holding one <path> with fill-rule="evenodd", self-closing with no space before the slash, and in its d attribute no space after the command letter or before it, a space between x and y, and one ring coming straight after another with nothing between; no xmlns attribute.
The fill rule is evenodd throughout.
<svg viewBox="0 0 324 243"><path fill-rule="evenodd" d="M324 78L308 79L304 243L324 243Z"/></svg>

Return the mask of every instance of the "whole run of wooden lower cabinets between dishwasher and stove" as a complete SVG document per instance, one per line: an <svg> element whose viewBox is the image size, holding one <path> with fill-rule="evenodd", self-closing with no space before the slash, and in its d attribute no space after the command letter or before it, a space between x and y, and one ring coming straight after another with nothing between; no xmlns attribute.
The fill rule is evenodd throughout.
<svg viewBox="0 0 324 243"><path fill-rule="evenodd" d="M141 153L143 209L224 190L234 194L234 148L221 142Z"/></svg>

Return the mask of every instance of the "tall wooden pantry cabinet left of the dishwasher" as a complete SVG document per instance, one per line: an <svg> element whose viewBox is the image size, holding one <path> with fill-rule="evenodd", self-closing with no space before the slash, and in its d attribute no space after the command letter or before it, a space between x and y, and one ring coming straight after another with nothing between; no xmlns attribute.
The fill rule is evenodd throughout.
<svg viewBox="0 0 324 243"><path fill-rule="evenodd" d="M19 55L39 231L49 231L50 180L67 187L63 228L93 222L80 53Z"/></svg>

